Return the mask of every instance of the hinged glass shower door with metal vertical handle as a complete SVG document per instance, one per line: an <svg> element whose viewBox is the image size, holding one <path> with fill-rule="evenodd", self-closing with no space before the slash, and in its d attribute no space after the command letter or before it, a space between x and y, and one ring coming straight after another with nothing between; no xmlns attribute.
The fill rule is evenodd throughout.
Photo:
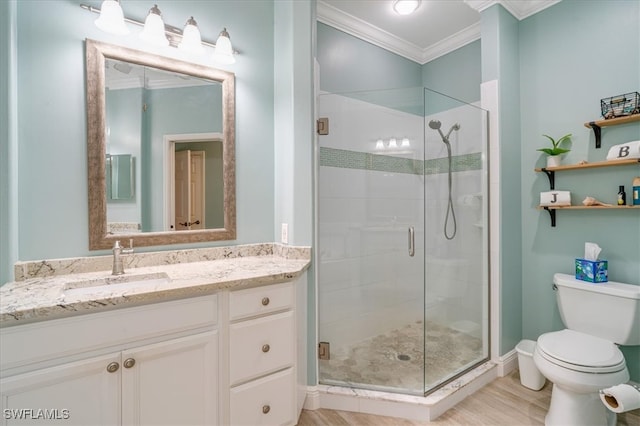
<svg viewBox="0 0 640 426"><path fill-rule="evenodd" d="M424 92L324 94L320 382L424 392Z"/></svg>

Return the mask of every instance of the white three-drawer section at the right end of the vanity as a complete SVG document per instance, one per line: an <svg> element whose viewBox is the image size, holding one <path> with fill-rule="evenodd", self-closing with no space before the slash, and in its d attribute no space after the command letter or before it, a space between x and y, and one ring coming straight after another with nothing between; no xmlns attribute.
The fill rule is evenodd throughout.
<svg viewBox="0 0 640 426"><path fill-rule="evenodd" d="M306 380L299 339L306 328L301 280L229 295L229 423L296 424ZM305 296L306 297L306 296ZM298 301L296 300L298 299ZM302 318L302 317L305 318ZM306 352L302 350L305 353Z"/></svg>

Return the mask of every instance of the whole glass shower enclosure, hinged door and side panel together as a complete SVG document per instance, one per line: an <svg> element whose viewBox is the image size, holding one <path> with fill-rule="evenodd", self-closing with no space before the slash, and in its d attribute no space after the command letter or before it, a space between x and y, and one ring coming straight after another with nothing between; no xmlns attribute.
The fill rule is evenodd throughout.
<svg viewBox="0 0 640 426"><path fill-rule="evenodd" d="M318 110L319 381L423 395L488 358L487 113L425 88Z"/></svg>

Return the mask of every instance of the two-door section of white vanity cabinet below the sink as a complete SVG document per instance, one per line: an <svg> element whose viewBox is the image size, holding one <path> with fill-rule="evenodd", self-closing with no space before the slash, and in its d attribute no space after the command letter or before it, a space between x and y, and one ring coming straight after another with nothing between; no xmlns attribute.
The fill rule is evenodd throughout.
<svg viewBox="0 0 640 426"><path fill-rule="evenodd" d="M3 424L218 424L217 312L214 295L0 329Z"/></svg>

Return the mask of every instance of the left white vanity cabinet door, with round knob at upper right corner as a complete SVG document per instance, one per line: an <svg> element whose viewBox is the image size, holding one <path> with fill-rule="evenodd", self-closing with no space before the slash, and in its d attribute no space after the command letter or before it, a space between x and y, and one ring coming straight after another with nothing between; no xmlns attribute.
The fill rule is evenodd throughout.
<svg viewBox="0 0 640 426"><path fill-rule="evenodd" d="M117 425L120 369L112 354L4 378L2 424Z"/></svg>

